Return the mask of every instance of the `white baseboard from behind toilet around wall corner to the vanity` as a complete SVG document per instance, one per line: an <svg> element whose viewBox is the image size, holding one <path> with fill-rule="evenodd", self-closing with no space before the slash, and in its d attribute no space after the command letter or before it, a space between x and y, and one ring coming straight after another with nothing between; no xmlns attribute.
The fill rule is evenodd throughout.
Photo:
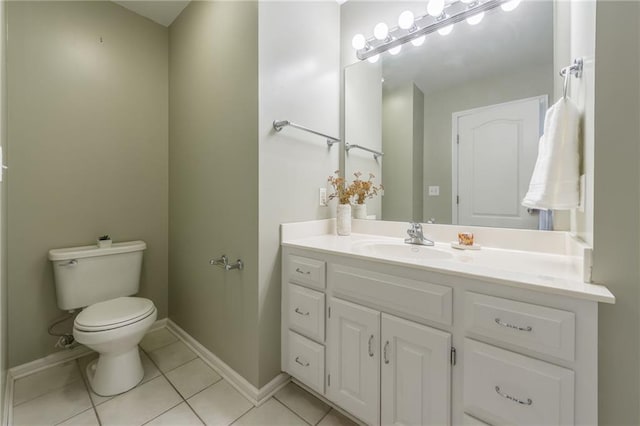
<svg viewBox="0 0 640 426"><path fill-rule="evenodd" d="M291 379L288 374L280 373L269 383L258 389L173 321L167 321L167 329L172 331L185 345L198 354L204 362L209 364L211 368L255 406L266 402L273 394L286 386Z"/></svg>

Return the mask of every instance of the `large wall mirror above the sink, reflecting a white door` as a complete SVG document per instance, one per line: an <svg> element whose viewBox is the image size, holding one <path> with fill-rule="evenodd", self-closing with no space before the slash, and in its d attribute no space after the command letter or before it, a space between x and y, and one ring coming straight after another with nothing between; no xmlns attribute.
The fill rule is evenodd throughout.
<svg viewBox="0 0 640 426"><path fill-rule="evenodd" d="M371 218L540 228L520 202L553 96L553 10L523 1L345 68L345 141L384 152L345 160L347 178L372 172L384 184Z"/></svg>

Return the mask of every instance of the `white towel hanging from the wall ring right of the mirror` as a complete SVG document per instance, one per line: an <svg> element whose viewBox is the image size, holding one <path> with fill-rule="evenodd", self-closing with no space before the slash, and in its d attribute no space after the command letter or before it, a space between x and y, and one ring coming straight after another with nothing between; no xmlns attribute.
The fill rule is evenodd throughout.
<svg viewBox="0 0 640 426"><path fill-rule="evenodd" d="M569 98L556 102L544 118L529 191L522 205L533 209L569 210L578 207L578 125L580 113Z"/></svg>

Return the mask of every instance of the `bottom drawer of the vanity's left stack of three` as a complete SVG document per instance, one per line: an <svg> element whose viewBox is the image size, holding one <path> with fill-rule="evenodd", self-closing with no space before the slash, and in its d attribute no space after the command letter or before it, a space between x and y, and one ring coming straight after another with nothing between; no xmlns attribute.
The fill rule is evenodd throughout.
<svg viewBox="0 0 640 426"><path fill-rule="evenodd" d="M324 346L289 331L287 373L324 395Z"/></svg>

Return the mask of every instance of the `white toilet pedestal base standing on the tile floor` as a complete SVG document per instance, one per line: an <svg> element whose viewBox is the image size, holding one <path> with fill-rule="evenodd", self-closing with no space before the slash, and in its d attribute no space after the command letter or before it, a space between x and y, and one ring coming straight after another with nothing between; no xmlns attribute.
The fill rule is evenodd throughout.
<svg viewBox="0 0 640 426"><path fill-rule="evenodd" d="M93 392L113 396L136 387L144 377L138 346L119 354L100 354L87 366L87 379Z"/></svg>

